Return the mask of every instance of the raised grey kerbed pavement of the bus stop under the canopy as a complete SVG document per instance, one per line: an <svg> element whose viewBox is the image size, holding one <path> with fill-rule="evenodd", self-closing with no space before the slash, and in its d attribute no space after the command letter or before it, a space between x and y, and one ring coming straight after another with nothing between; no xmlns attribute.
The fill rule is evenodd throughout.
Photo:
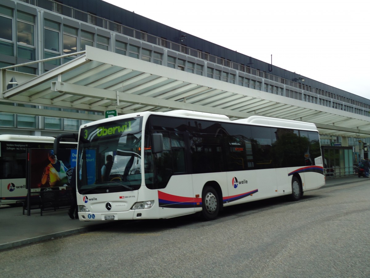
<svg viewBox="0 0 370 278"><path fill-rule="evenodd" d="M363 179L357 176L328 178L324 187L361 182ZM0 206L0 252L107 227L107 222L104 221L84 222L70 219L67 214L68 209L44 211L43 216L40 215L40 210L37 209L30 212L31 215L27 216L27 211L23 215L22 207Z"/></svg>

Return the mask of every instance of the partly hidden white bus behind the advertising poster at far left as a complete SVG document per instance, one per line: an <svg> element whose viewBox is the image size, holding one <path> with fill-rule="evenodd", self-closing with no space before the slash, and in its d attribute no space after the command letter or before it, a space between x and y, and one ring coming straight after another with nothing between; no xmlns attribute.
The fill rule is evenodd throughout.
<svg viewBox="0 0 370 278"><path fill-rule="evenodd" d="M54 139L51 136L0 135L0 205L14 205L26 199L27 150L53 149ZM62 143L63 148L76 148L76 143ZM40 180L41 175L42 170L38 174ZM40 188L31 191L40 191Z"/></svg>

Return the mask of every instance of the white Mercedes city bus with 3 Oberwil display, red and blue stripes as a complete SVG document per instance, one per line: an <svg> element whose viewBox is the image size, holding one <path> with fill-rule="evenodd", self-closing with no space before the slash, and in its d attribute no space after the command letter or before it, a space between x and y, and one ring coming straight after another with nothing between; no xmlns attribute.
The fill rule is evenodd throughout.
<svg viewBox="0 0 370 278"><path fill-rule="evenodd" d="M324 185L319 133L312 123L211 113L138 112L82 125L77 150L81 221L160 219ZM54 145L54 151L57 144ZM108 155L110 175L101 168Z"/></svg>

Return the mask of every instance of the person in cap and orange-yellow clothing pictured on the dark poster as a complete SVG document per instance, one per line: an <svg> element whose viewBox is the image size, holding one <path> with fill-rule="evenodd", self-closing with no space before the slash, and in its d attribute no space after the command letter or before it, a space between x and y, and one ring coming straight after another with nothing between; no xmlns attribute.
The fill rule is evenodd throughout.
<svg viewBox="0 0 370 278"><path fill-rule="evenodd" d="M54 155L54 151L48 152L48 159L50 163L45 167L43 176L41 177L41 184L47 186L47 182L50 187L60 186L67 183L67 167L64 166L63 162L57 159Z"/></svg>

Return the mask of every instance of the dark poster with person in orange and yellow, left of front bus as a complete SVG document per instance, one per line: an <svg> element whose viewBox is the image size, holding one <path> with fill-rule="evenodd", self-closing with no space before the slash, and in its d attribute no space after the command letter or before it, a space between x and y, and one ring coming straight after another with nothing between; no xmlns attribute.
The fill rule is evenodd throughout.
<svg viewBox="0 0 370 278"><path fill-rule="evenodd" d="M72 169L76 166L75 149L30 150L30 188L52 188L69 185Z"/></svg>

